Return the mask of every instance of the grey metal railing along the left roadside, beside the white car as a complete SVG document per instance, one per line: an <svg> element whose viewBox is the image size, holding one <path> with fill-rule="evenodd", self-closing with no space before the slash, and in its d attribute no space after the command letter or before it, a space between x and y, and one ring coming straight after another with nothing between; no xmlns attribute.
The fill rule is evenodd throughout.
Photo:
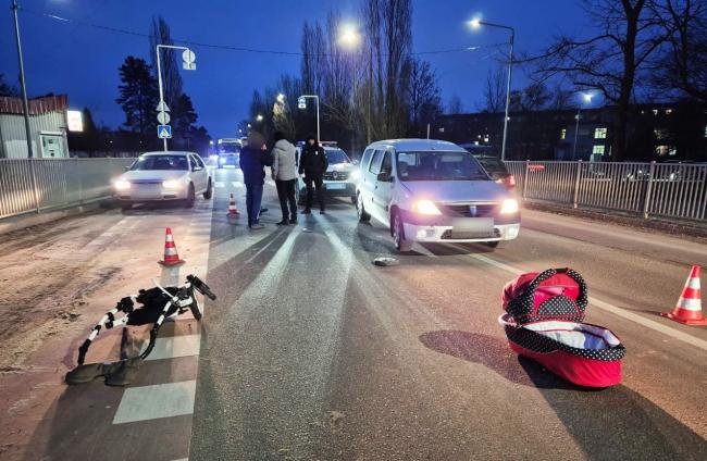
<svg viewBox="0 0 707 461"><path fill-rule="evenodd" d="M0 159L0 219L110 197L135 159Z"/></svg>

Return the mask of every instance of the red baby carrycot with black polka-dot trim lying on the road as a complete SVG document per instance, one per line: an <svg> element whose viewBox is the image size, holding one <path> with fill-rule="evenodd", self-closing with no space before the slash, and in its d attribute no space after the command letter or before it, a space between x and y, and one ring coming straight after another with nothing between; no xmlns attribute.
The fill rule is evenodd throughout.
<svg viewBox="0 0 707 461"><path fill-rule="evenodd" d="M504 326L510 348L520 356L585 387L621 383L625 348L609 329L584 322L586 283L571 269L519 275L503 294Z"/></svg>

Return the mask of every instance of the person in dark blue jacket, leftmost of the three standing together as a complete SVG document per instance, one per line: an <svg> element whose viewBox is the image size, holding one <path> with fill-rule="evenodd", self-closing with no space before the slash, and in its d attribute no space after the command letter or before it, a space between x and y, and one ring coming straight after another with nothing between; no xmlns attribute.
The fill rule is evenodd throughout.
<svg viewBox="0 0 707 461"><path fill-rule="evenodd" d="M265 166L272 165L272 158L266 151L265 140L260 133L248 135L248 145L240 149L240 170L243 182L246 184L246 211L248 227L262 229L260 224L260 205L265 185Z"/></svg>

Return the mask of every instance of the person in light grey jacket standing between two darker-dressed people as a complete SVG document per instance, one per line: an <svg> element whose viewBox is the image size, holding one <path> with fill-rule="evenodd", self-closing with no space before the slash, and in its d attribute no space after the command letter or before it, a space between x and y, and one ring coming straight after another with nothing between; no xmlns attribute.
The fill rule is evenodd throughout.
<svg viewBox="0 0 707 461"><path fill-rule="evenodd" d="M295 146L293 146L281 132L275 133L275 146L273 147L273 179L277 186L280 208L283 211L283 220L277 223L280 226L297 224L297 200L295 200L295 187L297 184L297 166L295 161ZM289 210L287 209L289 204Z"/></svg>

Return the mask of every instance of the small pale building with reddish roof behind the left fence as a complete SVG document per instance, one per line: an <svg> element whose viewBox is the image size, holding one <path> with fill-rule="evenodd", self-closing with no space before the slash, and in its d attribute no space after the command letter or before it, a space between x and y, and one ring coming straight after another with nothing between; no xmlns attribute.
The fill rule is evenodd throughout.
<svg viewBox="0 0 707 461"><path fill-rule="evenodd" d="M65 95L29 100L29 130L38 159L66 158ZM27 137L22 99L0 97L0 159L27 158Z"/></svg>

